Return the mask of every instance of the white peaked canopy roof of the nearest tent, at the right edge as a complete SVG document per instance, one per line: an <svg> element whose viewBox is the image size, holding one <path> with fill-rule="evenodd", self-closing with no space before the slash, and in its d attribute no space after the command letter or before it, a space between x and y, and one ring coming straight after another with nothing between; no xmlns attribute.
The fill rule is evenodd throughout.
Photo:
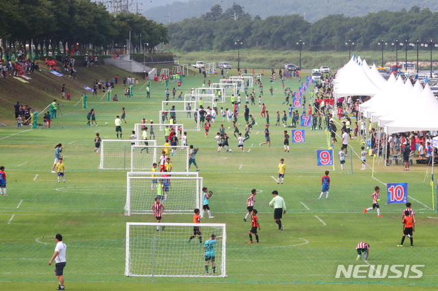
<svg viewBox="0 0 438 291"><path fill-rule="evenodd" d="M385 124L385 133L401 133L416 130L438 130L438 101L428 84L411 107L397 120Z"/></svg>

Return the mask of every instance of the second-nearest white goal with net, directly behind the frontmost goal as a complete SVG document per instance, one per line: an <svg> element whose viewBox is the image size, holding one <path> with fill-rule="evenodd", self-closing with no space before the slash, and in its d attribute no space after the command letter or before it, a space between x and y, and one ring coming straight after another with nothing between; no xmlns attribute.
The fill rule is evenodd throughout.
<svg viewBox="0 0 438 291"><path fill-rule="evenodd" d="M151 214L155 197L161 193L164 214L192 214L201 209L203 178L198 172L128 172L125 214Z"/></svg>

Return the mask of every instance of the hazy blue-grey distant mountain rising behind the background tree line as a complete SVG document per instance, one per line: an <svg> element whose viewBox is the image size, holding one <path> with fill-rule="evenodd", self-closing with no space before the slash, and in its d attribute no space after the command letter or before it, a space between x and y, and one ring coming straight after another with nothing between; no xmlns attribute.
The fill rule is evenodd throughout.
<svg viewBox="0 0 438 291"><path fill-rule="evenodd" d="M181 0L172 3L171 0L161 0L159 3L165 5L159 6L155 6L158 3L157 0L149 1L144 1L143 15L157 23L175 23L184 18L198 17L209 12L211 6L216 4L221 5L225 11L227 8L231 8L233 3L242 5L244 11L253 17L259 15L261 18L266 18L272 15L299 14L311 23L330 14L365 16L370 12L381 10L409 10L414 5L419 8L429 8L432 12L438 11L437 0ZM139 2L142 1L139 0ZM148 8L150 5L153 7Z"/></svg>

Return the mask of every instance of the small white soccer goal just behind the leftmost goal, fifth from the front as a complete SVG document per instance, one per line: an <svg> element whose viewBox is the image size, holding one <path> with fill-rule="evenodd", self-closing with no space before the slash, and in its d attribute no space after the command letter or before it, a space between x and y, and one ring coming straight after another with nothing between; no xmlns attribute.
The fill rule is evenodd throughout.
<svg viewBox="0 0 438 291"><path fill-rule="evenodd" d="M170 115L168 115L168 118L170 118ZM168 130L166 130L166 126ZM140 139L142 137L143 128L148 128L148 139L154 139L157 141L158 144L162 144L166 141L168 138L168 131L170 131L170 128L175 128L175 132L177 133L178 139L181 139L181 135L184 133L184 125L183 124L140 124L136 123L134 124L134 130L137 133L137 138ZM142 146L145 141L143 140L143 143L140 144ZM137 145L139 146L139 145ZM156 144L149 144L149 146L156 146Z"/></svg>

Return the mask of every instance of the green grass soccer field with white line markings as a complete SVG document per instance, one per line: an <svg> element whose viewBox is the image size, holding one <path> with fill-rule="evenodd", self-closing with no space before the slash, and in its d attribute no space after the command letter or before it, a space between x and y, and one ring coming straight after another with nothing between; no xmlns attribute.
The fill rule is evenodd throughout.
<svg viewBox="0 0 438 291"><path fill-rule="evenodd" d="M218 77L207 77L212 83ZM115 139L114 118L121 108L127 112L127 124L123 124L123 139L128 139L133 124L142 118L159 120L158 111L164 100L164 84L153 83L151 99L146 99L142 82L134 89L131 99L123 98L123 84L114 89L119 102L105 102L100 98L88 98L88 109L74 107L79 100L60 104L60 117L53 120L49 129L34 129L24 126L1 128L1 165L8 175L8 196L0 196L0 290L31 288L47 290L55 288L53 267L47 262L53 254L56 233L64 235L68 245L68 265L65 270L68 290L137 290L138 288L166 288L168 290L198 290L224 288L249 290L264 288L289 290L334 290L376 288L400 290L409 286L421 289L436 288L438 284L436 259L438 224L430 181L430 169L426 176L424 165L413 165L411 171L402 171L402 166L383 167L375 161L374 178L370 169L361 171L359 158L348 153L346 169L341 171L337 162L339 143L335 144L334 167L317 167L316 150L326 149L324 130L306 129L305 143L291 143L289 153L283 150L283 126L274 126L275 111L287 111L281 83L272 85L274 96L270 96L268 77L262 79L266 103L270 111L272 148L264 141L263 129L266 121L259 116L259 107L250 107L250 113L259 124L251 130L246 141L246 152L237 149L233 137L233 152L216 152L214 135L222 124L218 117L212 124L208 137L204 131L188 131L188 143L199 148L196 161L201 169L203 184L214 191L210 207L214 219L203 219L203 223L227 223L227 277L125 277L125 223L155 222L151 215L124 215L126 201L126 174L120 170L98 169L100 155L93 152L94 135L99 132L103 139ZM186 77L182 90L190 92L192 87L201 87L202 77ZM176 83L169 83L170 91ZM297 80L287 80L286 87L298 88ZM91 94L90 94L91 96ZM307 105L311 94L306 94ZM170 96L172 98L172 96ZM244 99L242 99L244 100ZM229 107L231 104L219 107ZM86 113L93 108L99 126L86 125ZM243 117L241 117L243 118ZM108 122L105 125L105 122ZM239 121L244 124L242 120ZM288 120L288 123L290 120ZM38 122L40 123L40 122ZM244 126L239 126L243 132ZM290 130L292 128L287 128ZM359 140L350 141L357 152ZM57 183L51 173L53 151L57 143L64 146L66 156L66 183ZM178 156L175 157L179 158ZM276 171L280 158L287 165L285 184L276 184ZM368 157L372 165L372 158ZM320 194L321 177L329 169L331 189L329 199L317 199ZM149 169L146 169L149 171ZM190 168L194 171L194 167ZM401 210L403 204L385 204L386 188L383 183L409 182L409 197L417 212L417 227L414 247L409 240L404 248L397 248L402 236ZM375 211L363 214L370 207L370 195L374 186L381 186L383 217ZM145 186L149 188L149 184ZM246 212L246 198L251 189L257 189L255 208L259 210L260 244L248 245L250 223L242 221ZM283 216L285 230L276 230L272 219L272 208L268 206L273 190L279 191L287 204ZM148 193L148 191L146 191ZM148 194L149 195L149 194ZM146 195L145 195L146 196ZM145 199L153 203L153 194ZM171 199L171 198L170 198ZM435 198L434 198L435 199ZM165 204L166 205L166 204ZM207 215L205 216L207 217ZM163 222L192 222L192 215L166 215ZM187 240L187 238L181 238ZM338 265L363 265L356 261L355 247L365 241L371 245L371 265L424 265L421 278L410 279L407 272L401 278L335 278ZM171 246L170 246L171 247ZM166 252L166 248L159 249ZM202 247L192 249L194 255L202 256ZM172 266L170 268L199 268L199 266ZM202 268L201 268L202 269ZM399 267L404 270L404 267ZM142 284L141 287L139 284ZM147 283L144 285L144 283ZM196 283L196 284L194 284ZM227 283L211 285L209 283ZM248 283L266 283L253 285ZM283 284L279 284L283 283ZM340 284L340 285L339 285ZM261 287L260 287L261 286Z"/></svg>

